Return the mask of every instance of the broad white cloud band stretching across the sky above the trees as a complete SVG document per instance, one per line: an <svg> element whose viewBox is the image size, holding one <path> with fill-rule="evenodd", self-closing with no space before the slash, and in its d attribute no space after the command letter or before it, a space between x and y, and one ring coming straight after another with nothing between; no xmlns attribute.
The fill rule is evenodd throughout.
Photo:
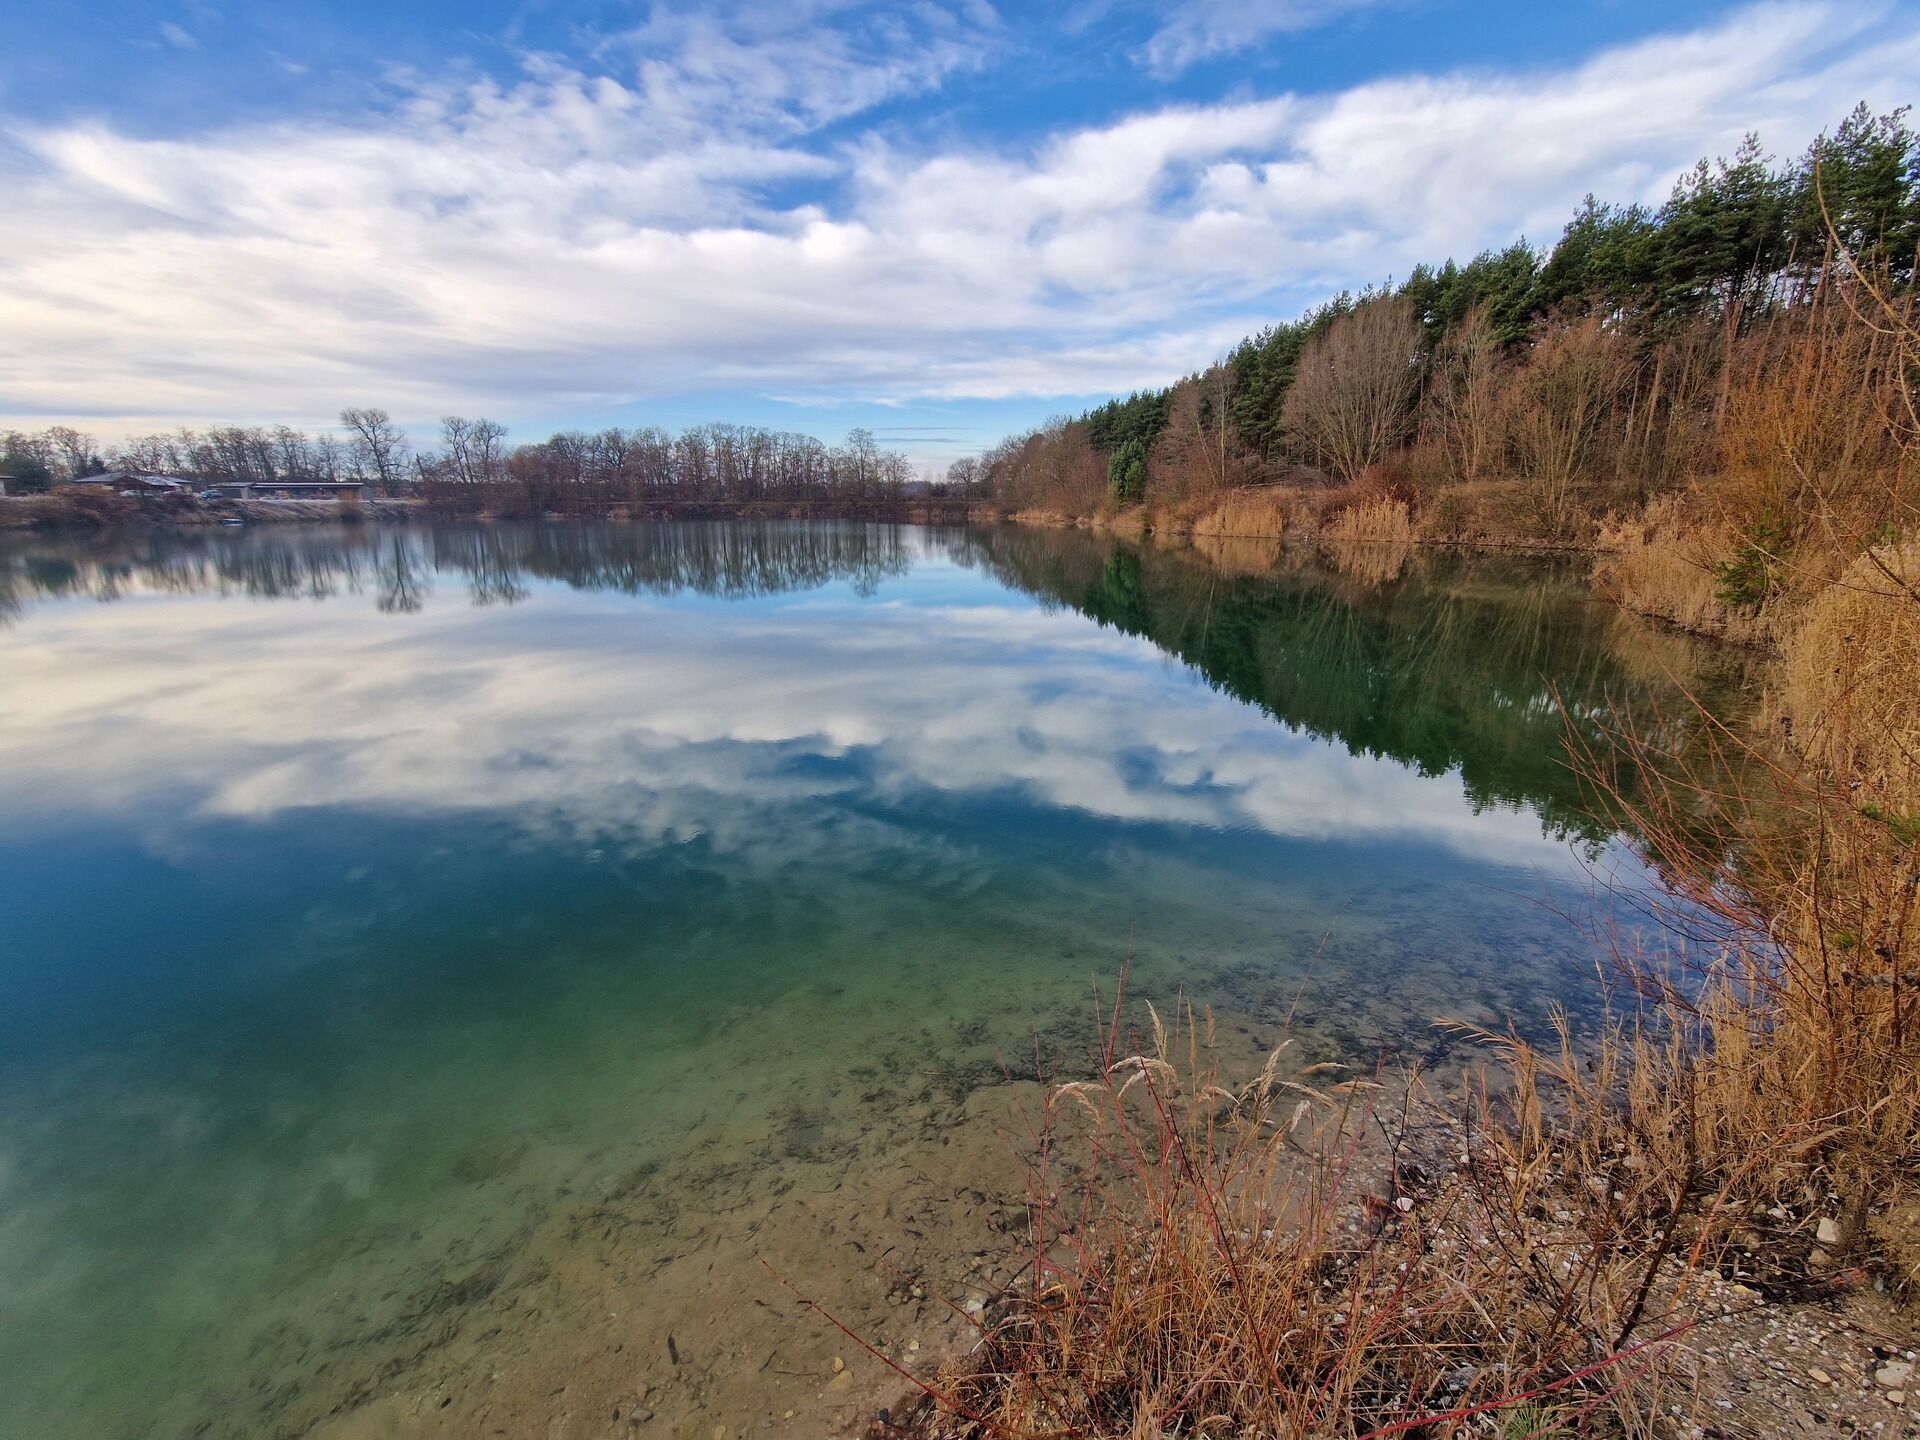
<svg viewBox="0 0 1920 1440"><path fill-rule="evenodd" d="M1327 290L1548 240L1590 188L1657 200L1747 129L1797 148L1920 73L1903 13L1763 6L1567 69L910 148L858 117L977 65L991 17L820 13L662 13L605 42L607 73L401 81L365 123L15 131L0 415L1123 390Z"/></svg>

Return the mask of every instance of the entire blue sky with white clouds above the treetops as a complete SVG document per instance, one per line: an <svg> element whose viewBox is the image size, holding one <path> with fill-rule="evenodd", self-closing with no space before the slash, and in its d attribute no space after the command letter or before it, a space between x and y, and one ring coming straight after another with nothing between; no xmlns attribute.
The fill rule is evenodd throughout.
<svg viewBox="0 0 1920 1440"><path fill-rule="evenodd" d="M0 424L927 463L1914 98L1910 4L12 0Z"/></svg>

